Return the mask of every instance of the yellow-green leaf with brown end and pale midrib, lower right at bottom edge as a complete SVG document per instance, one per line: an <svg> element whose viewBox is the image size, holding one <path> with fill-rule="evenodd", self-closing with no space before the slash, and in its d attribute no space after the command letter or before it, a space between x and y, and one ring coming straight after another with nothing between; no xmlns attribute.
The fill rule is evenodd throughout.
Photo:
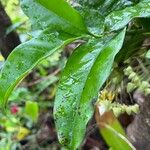
<svg viewBox="0 0 150 150"><path fill-rule="evenodd" d="M135 150L127 140L125 131L112 111L100 114L101 105L96 107L95 119L101 135L112 150Z"/></svg>

